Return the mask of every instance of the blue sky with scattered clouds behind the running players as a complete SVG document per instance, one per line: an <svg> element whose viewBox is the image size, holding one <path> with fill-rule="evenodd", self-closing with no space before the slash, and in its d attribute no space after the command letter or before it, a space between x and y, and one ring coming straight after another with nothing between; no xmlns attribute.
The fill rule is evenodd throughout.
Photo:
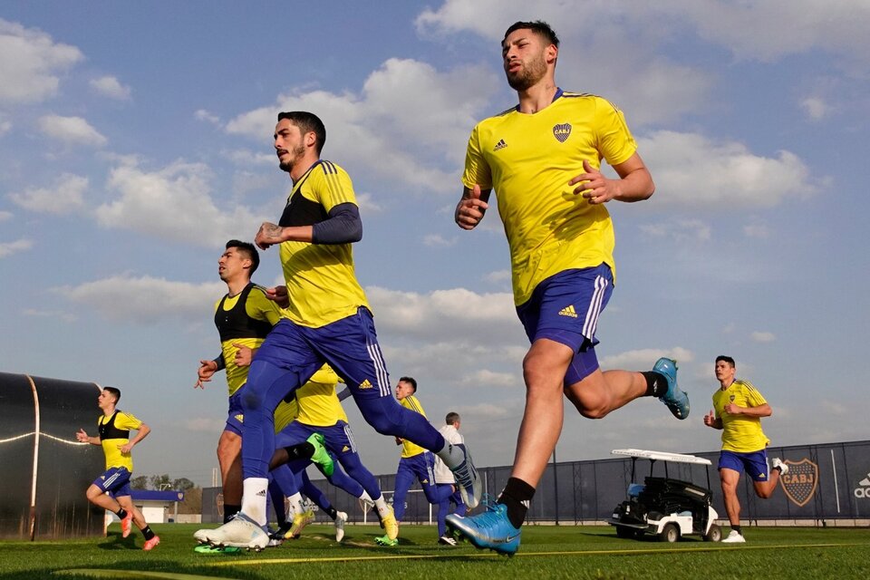
<svg viewBox="0 0 870 580"><path fill-rule="evenodd" d="M623 110L656 183L608 204L618 280L599 360L675 358L692 403L682 421L653 399L602 420L566 408L557 459L719 449L702 422L719 354L768 399L771 445L870 439L870 4L530 6L0 5L0 372L120 388L152 429L136 471L210 485L226 382L193 385L219 353L218 257L277 221L291 183L275 115L308 110L353 179L391 382L415 377L436 427L458 411L478 465L509 465L528 344L507 242L495 211L471 232L452 216L469 132L517 102L504 31L543 19L556 82ZM275 249L261 259L255 281L279 283ZM393 472L399 449L345 409L363 462Z"/></svg>

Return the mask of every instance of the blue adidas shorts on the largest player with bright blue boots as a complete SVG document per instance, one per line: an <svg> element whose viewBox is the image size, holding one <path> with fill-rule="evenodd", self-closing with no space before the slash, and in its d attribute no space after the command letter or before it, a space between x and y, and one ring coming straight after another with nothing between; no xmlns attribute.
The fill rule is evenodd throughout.
<svg viewBox="0 0 870 580"><path fill-rule="evenodd" d="M551 275L537 285L526 303L517 306L529 342L546 338L574 351L565 372L565 386L598 369L595 330L613 291L613 273L610 266L602 264Z"/></svg>

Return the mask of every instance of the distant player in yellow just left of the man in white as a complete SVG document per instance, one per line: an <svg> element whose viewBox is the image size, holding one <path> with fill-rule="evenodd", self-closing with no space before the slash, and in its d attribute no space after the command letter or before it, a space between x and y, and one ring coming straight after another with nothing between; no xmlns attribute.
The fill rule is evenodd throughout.
<svg viewBox="0 0 870 580"><path fill-rule="evenodd" d="M401 377L396 383L396 399L401 403L401 406L426 417L423 406L417 400L416 392L417 381L413 377ZM439 489L435 485L435 456L430 451L409 440L401 439L401 437L396 438L396 444L401 445L401 458L399 459L399 469L396 470L392 509L395 512L396 521L401 522L401 518L405 515L405 498L408 496L408 490L414 485L414 479L420 481L420 487L423 488L426 499L435 506L439 506L441 501L449 498L453 493L453 488ZM460 441L459 444L461 445L462 442ZM386 536L377 537L374 541L381 546L399 545L398 537L391 537L389 529Z"/></svg>

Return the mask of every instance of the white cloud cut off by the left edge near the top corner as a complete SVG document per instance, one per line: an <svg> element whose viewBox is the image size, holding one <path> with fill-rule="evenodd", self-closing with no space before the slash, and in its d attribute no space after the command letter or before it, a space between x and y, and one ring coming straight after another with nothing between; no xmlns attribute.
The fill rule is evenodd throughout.
<svg viewBox="0 0 870 580"><path fill-rule="evenodd" d="M0 18L0 102L39 102L57 93L60 75L82 61L74 46Z"/></svg>

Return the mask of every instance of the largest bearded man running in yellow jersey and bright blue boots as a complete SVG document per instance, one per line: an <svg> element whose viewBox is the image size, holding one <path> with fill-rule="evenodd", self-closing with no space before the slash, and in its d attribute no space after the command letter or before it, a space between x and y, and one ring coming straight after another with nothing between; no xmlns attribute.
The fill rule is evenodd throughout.
<svg viewBox="0 0 870 580"><path fill-rule="evenodd" d="M519 103L471 131L454 218L463 229L477 227L495 190L514 303L531 343L523 361L526 410L498 503L447 523L475 546L513 554L562 430L563 397L590 419L643 396L685 419L689 398L671 359L648 372L602 372L595 354L598 317L615 281L614 226L604 206L641 201L655 189L622 111L556 85L559 39L545 22L512 24L501 53ZM601 160L618 179L604 177Z"/></svg>

